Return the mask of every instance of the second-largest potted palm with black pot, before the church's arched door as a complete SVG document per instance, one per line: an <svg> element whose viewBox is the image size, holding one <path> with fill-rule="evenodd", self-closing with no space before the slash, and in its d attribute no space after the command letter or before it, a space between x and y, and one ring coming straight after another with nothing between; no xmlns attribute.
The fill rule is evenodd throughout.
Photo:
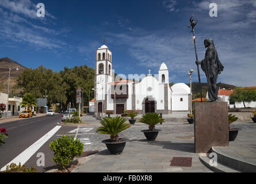
<svg viewBox="0 0 256 184"><path fill-rule="evenodd" d="M159 129L155 129L155 125L159 124L159 122L164 122L165 120L161 118L161 115L158 113L147 113L139 119L139 122L143 122L144 124L150 125L148 130L142 131L146 136L147 140L155 140L158 136L158 132L161 131Z"/></svg>

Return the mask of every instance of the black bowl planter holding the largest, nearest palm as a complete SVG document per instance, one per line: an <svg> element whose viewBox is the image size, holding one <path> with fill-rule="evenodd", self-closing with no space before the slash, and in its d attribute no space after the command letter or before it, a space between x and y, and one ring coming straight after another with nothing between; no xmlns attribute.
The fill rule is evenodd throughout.
<svg viewBox="0 0 256 184"><path fill-rule="evenodd" d="M126 144L125 139L123 138L119 138L119 139L123 141L116 143L116 142L112 142L110 139L106 139L106 140L103 140L102 143L106 144L106 147L108 148L108 150L112 155L119 155L123 152Z"/></svg>

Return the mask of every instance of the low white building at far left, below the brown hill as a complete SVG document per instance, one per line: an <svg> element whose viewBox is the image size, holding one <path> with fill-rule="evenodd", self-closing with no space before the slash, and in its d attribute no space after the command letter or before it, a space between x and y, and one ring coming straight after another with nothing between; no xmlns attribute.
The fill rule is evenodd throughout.
<svg viewBox="0 0 256 184"><path fill-rule="evenodd" d="M0 93L0 104L6 105L6 111L3 112L3 117L6 116L8 112L8 116L18 116L18 114L25 110L25 108L21 108L22 98L20 97L13 97L9 98L9 105L7 106L7 97L8 94Z"/></svg>

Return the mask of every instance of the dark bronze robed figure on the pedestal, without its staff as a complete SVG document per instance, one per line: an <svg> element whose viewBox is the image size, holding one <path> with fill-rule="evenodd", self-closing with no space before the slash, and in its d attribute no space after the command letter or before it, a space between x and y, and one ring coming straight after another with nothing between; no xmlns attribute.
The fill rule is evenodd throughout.
<svg viewBox="0 0 256 184"><path fill-rule="evenodd" d="M205 75L207 77L209 99L211 101L217 101L217 78L221 71L223 71L224 67L220 63L213 40L205 39L204 45L205 48L207 48L207 51L205 51L205 58L201 61L196 61L196 64L201 64L202 71L205 72Z"/></svg>

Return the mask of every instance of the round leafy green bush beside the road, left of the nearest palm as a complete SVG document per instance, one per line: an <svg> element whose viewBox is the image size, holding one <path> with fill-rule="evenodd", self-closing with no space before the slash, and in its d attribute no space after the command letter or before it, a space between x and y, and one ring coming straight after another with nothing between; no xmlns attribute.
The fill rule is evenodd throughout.
<svg viewBox="0 0 256 184"><path fill-rule="evenodd" d="M83 143L73 137L63 135L55 139L49 144L49 147L54 151L54 161L60 170L68 170L75 156L81 156L83 153Z"/></svg>

